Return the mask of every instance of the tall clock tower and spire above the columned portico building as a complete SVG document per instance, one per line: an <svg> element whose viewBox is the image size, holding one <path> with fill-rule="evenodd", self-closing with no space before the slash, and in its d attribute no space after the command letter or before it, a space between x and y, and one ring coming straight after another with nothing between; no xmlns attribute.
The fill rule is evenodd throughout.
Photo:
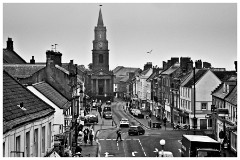
<svg viewBox="0 0 240 160"><path fill-rule="evenodd" d="M107 29L103 24L101 8L99 10L98 23L94 29L92 50L92 70L109 70L109 50L107 41Z"/></svg>

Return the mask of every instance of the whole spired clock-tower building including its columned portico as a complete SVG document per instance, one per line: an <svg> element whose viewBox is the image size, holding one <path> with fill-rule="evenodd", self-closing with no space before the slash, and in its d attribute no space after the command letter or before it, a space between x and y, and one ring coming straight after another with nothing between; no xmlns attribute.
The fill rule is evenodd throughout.
<svg viewBox="0 0 240 160"><path fill-rule="evenodd" d="M94 29L92 69L87 72L86 94L93 100L113 101L113 71L109 71L107 29L103 24L101 8Z"/></svg>

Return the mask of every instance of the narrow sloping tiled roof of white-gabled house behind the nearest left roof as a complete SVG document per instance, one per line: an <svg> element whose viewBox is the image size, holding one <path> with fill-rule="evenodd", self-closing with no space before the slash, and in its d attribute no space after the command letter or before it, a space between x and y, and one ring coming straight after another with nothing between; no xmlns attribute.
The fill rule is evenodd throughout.
<svg viewBox="0 0 240 160"><path fill-rule="evenodd" d="M69 102L66 97L61 95L48 83L40 82L35 83L32 86L40 93L42 93L45 97L47 97L50 101L52 101L54 104L56 104L59 108L66 110L71 106L71 102Z"/></svg>

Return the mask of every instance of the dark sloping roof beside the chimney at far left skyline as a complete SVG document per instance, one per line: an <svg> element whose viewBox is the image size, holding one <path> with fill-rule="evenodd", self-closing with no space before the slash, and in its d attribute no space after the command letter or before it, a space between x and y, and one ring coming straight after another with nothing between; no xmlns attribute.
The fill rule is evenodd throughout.
<svg viewBox="0 0 240 160"><path fill-rule="evenodd" d="M3 49L3 63L9 64L26 64L27 62L22 59L15 51Z"/></svg>

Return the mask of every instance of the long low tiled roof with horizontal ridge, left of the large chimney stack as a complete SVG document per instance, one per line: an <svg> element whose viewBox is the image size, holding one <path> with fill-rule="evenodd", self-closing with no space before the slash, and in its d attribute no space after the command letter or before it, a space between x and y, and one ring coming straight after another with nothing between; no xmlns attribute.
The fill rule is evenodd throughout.
<svg viewBox="0 0 240 160"><path fill-rule="evenodd" d="M46 64L4 64L3 69L14 78L27 78L45 66Z"/></svg>

